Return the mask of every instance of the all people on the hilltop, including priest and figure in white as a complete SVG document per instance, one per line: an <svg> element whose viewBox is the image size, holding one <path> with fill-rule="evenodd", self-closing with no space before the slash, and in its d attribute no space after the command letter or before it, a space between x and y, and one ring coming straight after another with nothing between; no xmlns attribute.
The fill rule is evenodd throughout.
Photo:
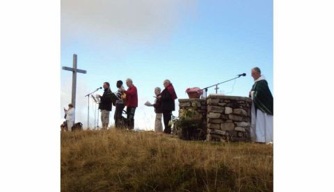
<svg viewBox="0 0 334 192"><path fill-rule="evenodd" d="M273 95L269 90L268 83L261 74L259 67L254 67L251 70L254 84L249 92L249 97L252 98L253 104L251 109L251 125L250 136L252 141L259 143L273 142ZM126 80L127 90L123 87L122 81L116 82L117 90L115 93L111 92L110 84L103 83L103 95L96 95L100 97L99 109L101 110L102 129L107 129L109 126L109 115L112 106L116 106L114 115L115 127L127 127L127 129L134 129L134 114L138 107L138 92L132 79ZM161 88L154 88L155 101L154 112L156 113L154 131L171 134L171 127L169 122L172 118L172 111L175 111L175 99L177 95L173 84L168 79L164 81L164 90ZM123 118L122 113L127 107L127 118ZM72 104L65 109L66 121L61 125L62 130L71 131L74 125L75 109ZM164 131L162 126L162 119L164 120Z"/></svg>

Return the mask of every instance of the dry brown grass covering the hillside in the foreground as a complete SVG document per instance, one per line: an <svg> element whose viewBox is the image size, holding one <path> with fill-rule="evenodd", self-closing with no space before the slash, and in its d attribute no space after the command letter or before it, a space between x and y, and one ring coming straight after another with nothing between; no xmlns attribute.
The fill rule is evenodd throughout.
<svg viewBox="0 0 334 192"><path fill-rule="evenodd" d="M61 133L62 191L273 191L273 147L134 131Z"/></svg>

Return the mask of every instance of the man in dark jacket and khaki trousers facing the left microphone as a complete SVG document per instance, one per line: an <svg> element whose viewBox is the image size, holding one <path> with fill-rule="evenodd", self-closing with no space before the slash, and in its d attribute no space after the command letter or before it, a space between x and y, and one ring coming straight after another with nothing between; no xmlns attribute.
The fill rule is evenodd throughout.
<svg viewBox="0 0 334 192"><path fill-rule="evenodd" d="M99 109L101 110L101 121L102 121L102 129L107 129L109 125L109 114L112 109L112 101L111 101L111 90L110 84L108 82L103 83L104 93L103 95L96 95L100 97Z"/></svg>

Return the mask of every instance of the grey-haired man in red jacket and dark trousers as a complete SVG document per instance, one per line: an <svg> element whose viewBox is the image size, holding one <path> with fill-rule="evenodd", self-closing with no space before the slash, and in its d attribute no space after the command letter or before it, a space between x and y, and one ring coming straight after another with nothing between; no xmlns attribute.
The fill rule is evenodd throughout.
<svg viewBox="0 0 334 192"><path fill-rule="evenodd" d="M134 129L134 112L136 111L136 107L138 106L138 94L137 88L134 86L132 79L127 79L127 90L124 90L124 93L127 94L127 122L128 128Z"/></svg>

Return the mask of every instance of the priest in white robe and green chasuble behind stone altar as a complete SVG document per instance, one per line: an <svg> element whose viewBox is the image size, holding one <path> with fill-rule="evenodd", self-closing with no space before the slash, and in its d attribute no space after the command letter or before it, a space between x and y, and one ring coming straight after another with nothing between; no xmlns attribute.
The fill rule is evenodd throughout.
<svg viewBox="0 0 334 192"><path fill-rule="evenodd" d="M259 67L251 71L254 85L249 92L253 99L250 136L259 143L273 142L273 95Z"/></svg>

